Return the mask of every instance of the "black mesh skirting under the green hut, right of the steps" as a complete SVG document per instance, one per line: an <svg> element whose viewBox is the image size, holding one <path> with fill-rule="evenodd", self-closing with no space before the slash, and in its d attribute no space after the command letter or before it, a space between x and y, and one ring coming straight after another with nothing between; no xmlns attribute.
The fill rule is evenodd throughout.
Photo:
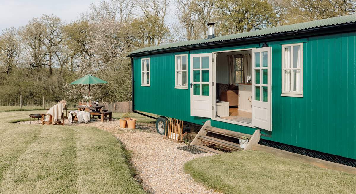
<svg viewBox="0 0 356 194"><path fill-rule="evenodd" d="M289 152L293 152L293 153L299 153L304 156L309 156L309 157L318 158L321 160L335 162L335 163L339 163L339 164L346 165L346 166L356 167L356 160L351 159L351 158L345 158L342 156L336 156L336 155L332 155L329 153L323 153L323 152L319 152L319 151L304 149L301 147L282 144L282 143L278 143L275 141L269 141L269 140L265 140L265 139L261 139L260 142L258 142L258 144L261 144L264 146L269 146L269 147L274 147L274 148L277 148L280 150L285 150L285 151L289 151Z"/></svg>

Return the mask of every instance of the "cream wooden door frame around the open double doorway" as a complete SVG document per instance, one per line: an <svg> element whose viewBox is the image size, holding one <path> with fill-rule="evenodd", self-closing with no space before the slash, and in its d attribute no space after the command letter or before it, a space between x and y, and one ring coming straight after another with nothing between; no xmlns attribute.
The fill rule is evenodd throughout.
<svg viewBox="0 0 356 194"><path fill-rule="evenodd" d="M235 51L244 51L244 50L251 50L251 52L252 52L252 49L255 49L255 48L222 50L222 51L213 52L213 68L212 68L212 71L213 71L213 104L215 107L216 107L216 54L226 53L226 52L235 52ZM252 65L251 65L251 71L252 71ZM216 108L213 111L212 120L217 120L217 121L221 121L224 123L231 123L231 124L235 124L235 125L242 125L242 126L248 126L251 128L256 128L255 126L253 126L252 124L249 124L249 123L244 123L244 122L239 122L239 121L235 121L235 120L229 120L229 119L223 119L223 118L216 117Z"/></svg>

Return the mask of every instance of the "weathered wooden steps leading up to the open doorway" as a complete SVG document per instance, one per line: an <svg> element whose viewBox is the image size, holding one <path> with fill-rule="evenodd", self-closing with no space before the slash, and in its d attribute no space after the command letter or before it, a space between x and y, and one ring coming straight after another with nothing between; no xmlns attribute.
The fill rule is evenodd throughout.
<svg viewBox="0 0 356 194"><path fill-rule="evenodd" d="M208 135L208 133L210 135ZM216 134L216 136L214 136ZM236 140L241 136L248 136L250 140L245 149L240 147L240 144L235 142L227 141L231 138L235 138ZM220 137L220 138L219 138ZM224 138L225 137L225 138ZM227 139L227 140L223 140ZM237 140L238 141L238 140ZM207 142L210 144L218 145L225 147L230 150L239 151L239 150L251 150L252 145L257 144L260 141L260 130L255 130L253 135L244 134L236 131L230 131L226 129L220 129L216 127L210 126L210 120L206 121L203 127L199 130L198 134L195 136L194 140L190 145L194 145L197 149L202 151L208 151L212 153L223 153L221 151L211 149L209 147L201 145L202 142Z"/></svg>

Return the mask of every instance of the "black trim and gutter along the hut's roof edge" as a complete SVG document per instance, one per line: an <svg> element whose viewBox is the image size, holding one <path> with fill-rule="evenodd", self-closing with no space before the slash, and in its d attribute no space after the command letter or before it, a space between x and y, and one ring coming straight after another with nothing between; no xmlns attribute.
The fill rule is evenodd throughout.
<svg viewBox="0 0 356 194"><path fill-rule="evenodd" d="M195 44L195 45L192 44L192 45L187 45L187 46L182 46L182 47L172 47L172 48L168 48L168 49L152 50L152 51L147 51L147 52L129 54L129 55L127 55L127 57L145 56L145 55L162 54L162 53L173 53L173 52L185 51L185 50L202 49L202 48L211 47L211 46L214 46L213 48L226 47L226 44L232 44L232 43L246 44L246 42L249 42L249 44L250 44L250 43L256 43L256 41L259 41L259 40L262 40L261 42L273 41L273 40L283 40L283 39L291 38L293 36L302 36L302 35L308 36L310 34L312 36L316 36L316 35L321 35L321 34L331 34L331 33L337 33L337 32L344 33L344 32L350 31L353 27L354 28L356 27L356 22L344 23L344 24L332 25L332 26L323 26L323 27L318 27L318 28L309 28L309 29L304 29L304 30L300 30L300 31L282 32L282 33L275 33L275 34L256 36L256 37L247 37L247 38L231 39L231 40L226 40L226 41L210 42L210 43L203 43L203 44ZM340 28L345 28L345 31L340 31ZM336 30L336 29L338 29L338 30ZM310 34L308 34L308 33L310 33ZM297 37L293 37L293 38L297 38ZM252 41L255 41L255 42L252 42Z"/></svg>

